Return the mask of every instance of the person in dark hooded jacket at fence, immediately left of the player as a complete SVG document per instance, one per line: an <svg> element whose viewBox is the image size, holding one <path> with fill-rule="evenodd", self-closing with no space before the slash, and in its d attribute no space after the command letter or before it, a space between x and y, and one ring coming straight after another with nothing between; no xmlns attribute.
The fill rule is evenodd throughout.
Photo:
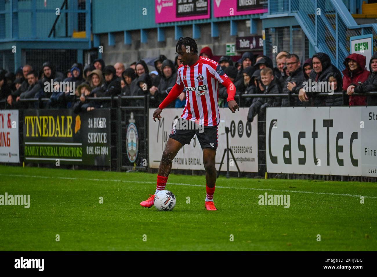
<svg viewBox="0 0 377 277"><path fill-rule="evenodd" d="M176 83L176 80L177 80L177 72L175 70L175 67L174 67L174 64L171 60L164 60L164 62L162 62L162 78L161 78L161 81L158 85L158 104L161 103L165 98L166 96L169 94L170 92L170 89L173 88L173 86L175 85ZM181 98L185 98L185 92L182 92L181 95L179 95L179 97ZM175 107L175 102L171 102L167 108L174 108Z"/></svg>

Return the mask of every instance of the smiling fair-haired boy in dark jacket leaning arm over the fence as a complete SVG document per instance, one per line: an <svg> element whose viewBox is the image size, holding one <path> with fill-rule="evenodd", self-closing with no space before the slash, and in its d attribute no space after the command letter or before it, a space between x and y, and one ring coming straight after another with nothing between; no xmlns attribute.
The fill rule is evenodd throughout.
<svg viewBox="0 0 377 277"><path fill-rule="evenodd" d="M276 82L274 72L271 68L261 70L261 80L265 87L264 94L279 94L282 92L279 83ZM248 122L253 122L256 114L264 115L266 108L279 107L281 105L280 97L259 97L254 98L247 115Z"/></svg>

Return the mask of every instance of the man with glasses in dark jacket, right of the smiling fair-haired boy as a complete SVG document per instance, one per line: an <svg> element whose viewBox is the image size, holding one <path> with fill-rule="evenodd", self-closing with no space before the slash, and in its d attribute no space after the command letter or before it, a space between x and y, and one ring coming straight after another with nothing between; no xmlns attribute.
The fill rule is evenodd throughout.
<svg viewBox="0 0 377 277"><path fill-rule="evenodd" d="M301 106L297 95L299 94L300 85L305 82L305 77L301 68L300 59L296 54L290 54L285 58L285 61L285 64L289 68L289 76L284 82L283 93L290 92L291 94L295 94L295 96L291 97L290 102L288 102L287 97L284 97L282 99L282 107L288 107L288 104L289 106Z"/></svg>

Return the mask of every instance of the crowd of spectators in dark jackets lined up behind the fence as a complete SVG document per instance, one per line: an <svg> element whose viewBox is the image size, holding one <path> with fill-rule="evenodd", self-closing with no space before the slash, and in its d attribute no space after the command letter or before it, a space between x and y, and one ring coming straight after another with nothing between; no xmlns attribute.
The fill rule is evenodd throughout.
<svg viewBox="0 0 377 277"><path fill-rule="evenodd" d="M211 59L214 57L209 47L202 48L199 55ZM355 92L377 91L377 54L372 56L369 70L366 69L364 55L348 55L342 72L331 64L327 54L321 52L300 61L296 54L282 51L277 53L275 61L276 67L270 57L255 56L251 52L244 52L237 62L228 56L222 56L218 60L225 74L234 83L236 95L246 95L239 104L250 107L247 118L250 122L256 114L263 114L267 107L377 105L376 95L354 95ZM0 69L0 101L5 100L5 108L10 109L72 108L79 113L110 106L108 100L93 101L88 97L149 94L150 107L157 107L175 85L179 66L178 55L174 61L165 55L159 55L154 60L155 70L151 72L144 60L134 62L126 68L121 62L105 65L102 59L85 66L74 63L64 73L56 71L51 62L43 63L42 68L38 68L39 71L31 65L25 65L15 73ZM50 89L46 89L46 82L51 83L51 86L48 85ZM308 84L316 82L331 84L331 92L345 93L328 93L325 97L319 97L318 92L329 91L308 89ZM62 83L66 85L62 86ZM252 94L281 93L292 96L247 97ZM220 85L220 107L227 107L227 96L226 88ZM28 98L49 98L49 101L20 101ZM184 107L185 98L186 93L182 91L168 107ZM143 105L144 102L138 103ZM122 101L122 105L127 103Z"/></svg>

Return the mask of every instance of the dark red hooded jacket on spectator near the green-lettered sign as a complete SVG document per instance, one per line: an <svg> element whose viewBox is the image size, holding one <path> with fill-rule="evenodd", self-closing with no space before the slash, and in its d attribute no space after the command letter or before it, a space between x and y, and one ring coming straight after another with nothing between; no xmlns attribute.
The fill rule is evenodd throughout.
<svg viewBox="0 0 377 277"><path fill-rule="evenodd" d="M359 65L359 68L355 71L350 71L348 66L348 60L355 60ZM346 91L350 85L358 86L366 81L368 76L371 74L365 69L366 58L360 54L350 54L344 60L344 65L346 69L342 71L343 73L343 90ZM349 106L365 106L366 96L349 96Z"/></svg>

